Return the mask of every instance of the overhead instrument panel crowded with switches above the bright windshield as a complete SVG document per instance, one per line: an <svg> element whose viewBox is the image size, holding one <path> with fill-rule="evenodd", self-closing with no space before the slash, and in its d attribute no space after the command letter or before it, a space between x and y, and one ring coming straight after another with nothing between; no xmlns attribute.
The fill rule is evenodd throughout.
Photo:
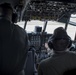
<svg viewBox="0 0 76 75"><path fill-rule="evenodd" d="M22 20L55 20L62 17L69 18L76 14L76 4L59 0L30 0L25 9Z"/></svg>

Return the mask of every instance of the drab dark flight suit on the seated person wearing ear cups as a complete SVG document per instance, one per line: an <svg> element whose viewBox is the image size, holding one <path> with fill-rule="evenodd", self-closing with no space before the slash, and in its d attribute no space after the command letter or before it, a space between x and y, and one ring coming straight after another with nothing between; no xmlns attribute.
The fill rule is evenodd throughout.
<svg viewBox="0 0 76 75"><path fill-rule="evenodd" d="M76 54L63 52L41 61L38 75L63 75L65 71L74 68L76 68Z"/></svg>

